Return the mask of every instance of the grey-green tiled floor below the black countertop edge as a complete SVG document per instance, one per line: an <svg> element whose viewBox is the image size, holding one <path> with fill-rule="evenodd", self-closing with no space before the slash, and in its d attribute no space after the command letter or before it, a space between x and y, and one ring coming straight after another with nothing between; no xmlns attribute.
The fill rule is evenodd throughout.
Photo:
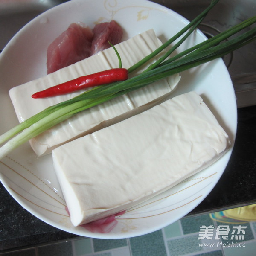
<svg viewBox="0 0 256 256"><path fill-rule="evenodd" d="M201 226L229 229L228 236L199 238ZM244 227L242 239L232 239L234 226ZM241 256L256 255L256 222L226 224L208 214L182 218L156 232L130 239L77 238L3 256Z"/></svg>

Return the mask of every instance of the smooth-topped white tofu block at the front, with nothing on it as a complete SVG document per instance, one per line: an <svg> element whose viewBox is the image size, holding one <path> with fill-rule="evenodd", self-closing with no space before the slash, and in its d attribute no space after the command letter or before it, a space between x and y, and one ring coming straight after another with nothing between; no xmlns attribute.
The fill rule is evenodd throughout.
<svg viewBox="0 0 256 256"><path fill-rule="evenodd" d="M190 92L52 152L77 226L175 186L212 164L229 146L215 116L197 93Z"/></svg>

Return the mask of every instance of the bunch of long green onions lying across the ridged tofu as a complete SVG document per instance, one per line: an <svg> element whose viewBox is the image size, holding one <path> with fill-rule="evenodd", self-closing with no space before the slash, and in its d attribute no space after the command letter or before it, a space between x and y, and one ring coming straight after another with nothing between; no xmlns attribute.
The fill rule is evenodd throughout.
<svg viewBox="0 0 256 256"><path fill-rule="evenodd" d="M146 56L137 64L128 69L129 73L137 70L137 68L141 67L151 58L154 58L159 52L163 51L163 49L168 47L175 40L186 33L169 51L167 51L165 55L163 55L162 58L157 60L154 64L151 64L148 69L144 70L139 75L125 81L98 86L91 90L87 90L73 99L46 108L45 110L35 114L16 127L7 131L5 134L1 135L0 144L6 142L7 140L9 141L0 148L0 159L9 154L9 152L11 152L14 148L32 139L38 134L41 134L54 125L70 118L76 113L129 93L133 90L137 90L143 86L151 84L154 81L158 81L168 76L188 70L192 67L196 67L200 64L204 64L208 61L212 61L216 58L220 58L255 40L256 28L250 29L249 31L244 32L230 40L227 39L256 23L256 16L239 23L238 25L220 33L219 35L216 35L213 38L203 41L194 47L186 49L185 51L166 59L175 49L177 49L177 47L180 46L180 44L182 44L183 41L186 40L186 38L188 38L188 36L196 29L198 24L207 15L209 10L212 9L212 7L215 6L218 1L219 0L212 0L209 7L182 30L180 30L180 32L170 38L165 44L152 52L150 55Z"/></svg>

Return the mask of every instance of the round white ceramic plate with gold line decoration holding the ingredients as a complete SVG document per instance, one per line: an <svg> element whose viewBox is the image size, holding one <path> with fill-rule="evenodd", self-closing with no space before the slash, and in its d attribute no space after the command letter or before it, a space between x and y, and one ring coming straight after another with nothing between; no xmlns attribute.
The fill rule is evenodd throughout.
<svg viewBox="0 0 256 256"><path fill-rule="evenodd" d="M9 99L9 89L46 75L49 43L72 22L82 21L94 26L95 22L110 20L121 24L125 30L124 39L154 28L162 41L188 23L177 13L145 0L73 0L36 17L12 38L0 54L1 134L18 123ZM203 40L204 35L198 31L179 51ZM223 61L212 61L184 72L181 76L178 89L173 95L191 90L201 94L234 142L236 99ZM80 236L127 238L159 230L195 208L218 182L231 151L232 148L212 166L163 195L117 217L117 225L109 233L90 232L83 227L72 226L55 177L51 155L37 158L28 143L1 160L0 179L25 209L54 227Z"/></svg>

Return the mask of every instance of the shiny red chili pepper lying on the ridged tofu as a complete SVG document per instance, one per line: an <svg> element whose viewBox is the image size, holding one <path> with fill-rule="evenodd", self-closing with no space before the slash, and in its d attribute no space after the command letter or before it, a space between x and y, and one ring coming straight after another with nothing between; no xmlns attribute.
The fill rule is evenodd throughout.
<svg viewBox="0 0 256 256"><path fill-rule="evenodd" d="M128 70L125 68L113 68L104 70L87 76L67 81L63 84L58 84L46 90L34 93L32 98L45 98L50 96L57 96L66 93L71 93L76 90L81 90L97 85L109 84L116 81L124 81L128 79Z"/></svg>

